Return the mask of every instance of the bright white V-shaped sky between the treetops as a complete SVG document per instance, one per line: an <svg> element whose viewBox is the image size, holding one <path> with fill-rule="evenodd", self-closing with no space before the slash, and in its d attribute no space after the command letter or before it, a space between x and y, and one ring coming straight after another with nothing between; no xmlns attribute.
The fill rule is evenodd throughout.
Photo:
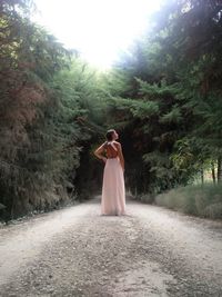
<svg viewBox="0 0 222 297"><path fill-rule="evenodd" d="M33 20L93 66L107 69L139 38L161 0L36 0Z"/></svg>

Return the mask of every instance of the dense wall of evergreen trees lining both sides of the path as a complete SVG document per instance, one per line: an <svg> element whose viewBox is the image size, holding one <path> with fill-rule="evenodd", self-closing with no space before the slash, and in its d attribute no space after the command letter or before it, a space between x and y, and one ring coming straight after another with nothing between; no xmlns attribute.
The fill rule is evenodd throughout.
<svg viewBox="0 0 222 297"><path fill-rule="evenodd" d="M141 200L196 176L203 184L209 170L222 180L221 1L165 1L107 75L33 24L31 6L0 2L0 216L100 190L92 150L108 128L120 132L127 188Z"/></svg>

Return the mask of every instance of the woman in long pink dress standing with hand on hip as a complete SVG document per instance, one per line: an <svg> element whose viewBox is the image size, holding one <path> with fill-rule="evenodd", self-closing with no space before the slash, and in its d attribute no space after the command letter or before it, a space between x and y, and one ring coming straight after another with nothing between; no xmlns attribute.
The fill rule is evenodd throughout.
<svg viewBox="0 0 222 297"><path fill-rule="evenodd" d="M104 161L101 215L125 215L124 158L115 130L107 132L107 141L94 155ZM104 157L105 155L105 157Z"/></svg>

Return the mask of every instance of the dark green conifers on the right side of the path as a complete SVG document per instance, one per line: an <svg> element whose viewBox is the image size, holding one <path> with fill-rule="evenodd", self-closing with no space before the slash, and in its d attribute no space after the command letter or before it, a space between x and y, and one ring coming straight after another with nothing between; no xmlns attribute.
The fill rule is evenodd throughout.
<svg viewBox="0 0 222 297"><path fill-rule="evenodd" d="M221 180L221 11L220 1L165 1L152 31L110 76L113 117L133 143L125 147L137 192L196 175L203 182L210 169L215 182L216 167Z"/></svg>

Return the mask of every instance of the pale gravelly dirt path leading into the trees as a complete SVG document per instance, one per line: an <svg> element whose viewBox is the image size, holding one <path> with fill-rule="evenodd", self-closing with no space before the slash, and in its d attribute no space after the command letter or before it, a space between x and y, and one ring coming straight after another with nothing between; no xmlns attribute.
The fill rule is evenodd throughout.
<svg viewBox="0 0 222 297"><path fill-rule="evenodd" d="M222 222L99 199L0 229L0 296L222 296Z"/></svg>

